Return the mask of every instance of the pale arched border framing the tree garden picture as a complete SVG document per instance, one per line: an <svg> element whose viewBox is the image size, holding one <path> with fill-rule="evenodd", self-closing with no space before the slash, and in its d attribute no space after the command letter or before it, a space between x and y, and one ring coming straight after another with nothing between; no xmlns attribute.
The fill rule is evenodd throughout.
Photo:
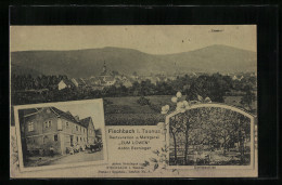
<svg viewBox="0 0 282 185"><path fill-rule="evenodd" d="M201 107L219 107L219 108L226 108L226 109L230 109L233 111L236 111L239 114L242 114L244 116L246 116L247 118L251 119L251 163L249 166L167 166L167 169L190 169L190 170L196 170L195 168L198 168L201 170L203 170L202 168L207 168L206 170L222 170L222 169L227 169L227 170L257 170L257 148L255 148L255 122L257 121L256 117L254 115L251 115L240 108L236 108L234 106L230 106L230 105L226 105L226 104L217 104L217 103L208 103L208 104L195 104L190 106L189 108L187 108L187 110L190 109L195 109L195 108L201 108ZM169 128L169 119L172 116L176 116L180 114L180 111L174 111L171 114L169 114L166 117L166 127ZM169 129L167 128L167 133L166 133L166 144L169 147ZM169 158L169 151L168 151L168 158ZM215 169L213 169L215 168Z"/></svg>

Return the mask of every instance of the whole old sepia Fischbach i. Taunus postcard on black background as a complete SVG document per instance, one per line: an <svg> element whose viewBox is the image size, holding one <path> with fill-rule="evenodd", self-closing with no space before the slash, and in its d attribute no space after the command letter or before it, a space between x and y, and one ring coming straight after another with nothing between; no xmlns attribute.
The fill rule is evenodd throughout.
<svg viewBox="0 0 282 185"><path fill-rule="evenodd" d="M10 51L13 177L258 175L256 25L11 26Z"/></svg>

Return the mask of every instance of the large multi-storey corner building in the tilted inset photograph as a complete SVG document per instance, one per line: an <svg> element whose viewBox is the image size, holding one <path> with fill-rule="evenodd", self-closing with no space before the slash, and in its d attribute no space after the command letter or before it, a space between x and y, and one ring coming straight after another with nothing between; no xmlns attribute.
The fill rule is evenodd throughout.
<svg viewBox="0 0 282 185"><path fill-rule="evenodd" d="M20 124L28 154L49 155L49 148L52 146L54 154L65 155L72 146L84 147L93 143L93 122L90 119L86 124L84 120L55 107L24 113Z"/></svg>

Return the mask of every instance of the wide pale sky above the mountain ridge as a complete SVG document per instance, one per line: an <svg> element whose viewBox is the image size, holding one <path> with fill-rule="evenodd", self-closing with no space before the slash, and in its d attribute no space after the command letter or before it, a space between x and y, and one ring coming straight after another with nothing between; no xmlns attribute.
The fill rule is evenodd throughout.
<svg viewBox="0 0 282 185"><path fill-rule="evenodd" d="M256 25L10 27L11 52L118 47L150 54L171 54L213 44L256 52Z"/></svg>

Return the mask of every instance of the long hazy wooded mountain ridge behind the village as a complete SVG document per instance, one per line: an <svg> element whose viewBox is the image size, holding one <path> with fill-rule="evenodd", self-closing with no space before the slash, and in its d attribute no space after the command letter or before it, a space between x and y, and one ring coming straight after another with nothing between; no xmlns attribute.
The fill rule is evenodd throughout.
<svg viewBox="0 0 282 185"><path fill-rule="evenodd" d="M12 74L98 76L106 62L108 70L149 76L175 72L245 72L256 71L256 53L227 45L166 55L133 49L106 47L72 51L21 51L11 53Z"/></svg>

